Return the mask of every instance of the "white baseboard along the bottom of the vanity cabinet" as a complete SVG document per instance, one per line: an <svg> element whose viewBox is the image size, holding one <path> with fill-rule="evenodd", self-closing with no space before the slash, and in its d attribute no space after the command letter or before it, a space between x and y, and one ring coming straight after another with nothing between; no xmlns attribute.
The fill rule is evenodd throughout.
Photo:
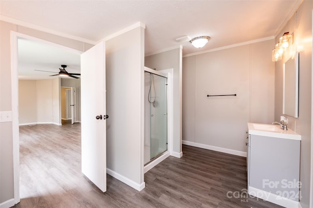
<svg viewBox="0 0 313 208"><path fill-rule="evenodd" d="M285 208L299 208L300 203L254 187L248 187L248 194Z"/></svg>

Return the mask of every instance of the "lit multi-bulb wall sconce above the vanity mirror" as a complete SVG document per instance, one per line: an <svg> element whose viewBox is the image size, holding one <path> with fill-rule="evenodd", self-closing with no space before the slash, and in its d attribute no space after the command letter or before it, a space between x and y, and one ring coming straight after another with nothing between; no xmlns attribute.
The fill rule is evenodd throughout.
<svg viewBox="0 0 313 208"><path fill-rule="evenodd" d="M292 35L290 35L289 32L284 33L284 35L279 38L279 42L275 45L275 48L272 50L272 62L282 60L282 56L291 46L291 43Z"/></svg>

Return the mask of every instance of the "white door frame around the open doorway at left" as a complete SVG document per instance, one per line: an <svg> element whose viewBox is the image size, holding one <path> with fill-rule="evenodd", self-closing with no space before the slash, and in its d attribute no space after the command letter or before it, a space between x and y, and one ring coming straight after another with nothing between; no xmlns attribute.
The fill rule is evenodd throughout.
<svg viewBox="0 0 313 208"><path fill-rule="evenodd" d="M48 42L43 39L35 38L19 32L11 31L11 93L12 93L12 137L13 137L13 187L14 204L20 202L20 130L19 130L19 72L18 72L18 39L28 39L42 42L65 50L79 51L54 42ZM59 95L60 96L60 95ZM60 98L59 101L61 102ZM59 105L60 105L59 102Z"/></svg>

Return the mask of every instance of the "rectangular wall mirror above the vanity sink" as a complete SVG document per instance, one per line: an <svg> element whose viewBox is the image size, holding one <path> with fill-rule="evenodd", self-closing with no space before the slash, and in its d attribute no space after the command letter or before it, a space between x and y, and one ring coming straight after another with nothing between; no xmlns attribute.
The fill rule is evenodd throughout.
<svg viewBox="0 0 313 208"><path fill-rule="evenodd" d="M299 52L283 65L283 114L298 118Z"/></svg>

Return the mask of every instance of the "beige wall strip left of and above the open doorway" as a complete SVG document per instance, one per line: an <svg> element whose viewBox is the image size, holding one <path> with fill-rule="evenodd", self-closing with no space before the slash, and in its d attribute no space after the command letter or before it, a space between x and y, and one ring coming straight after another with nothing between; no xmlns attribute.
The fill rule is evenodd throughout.
<svg viewBox="0 0 313 208"><path fill-rule="evenodd" d="M84 42L29 29L0 21L0 111L12 111L11 48L10 31L20 32L49 42L54 42L80 51L90 47ZM18 106L13 110L17 111ZM0 204L13 200L13 126L12 122L0 123Z"/></svg>

